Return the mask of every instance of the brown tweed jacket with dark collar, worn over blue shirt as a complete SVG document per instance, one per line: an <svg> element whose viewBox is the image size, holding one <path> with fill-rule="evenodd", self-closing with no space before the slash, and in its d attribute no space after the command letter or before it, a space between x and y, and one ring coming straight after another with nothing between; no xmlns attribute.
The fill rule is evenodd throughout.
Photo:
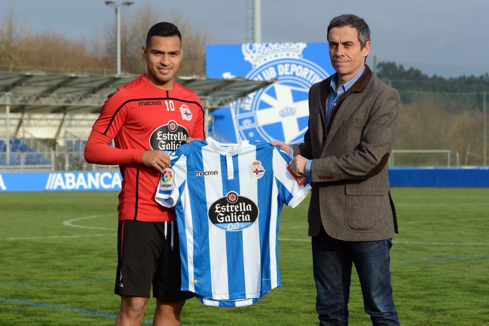
<svg viewBox="0 0 489 326"><path fill-rule="evenodd" d="M399 94L368 66L338 100L325 128L331 78L309 90L309 128L294 155L312 159L309 235L321 227L346 241L388 239L398 232L387 161L398 130Z"/></svg>

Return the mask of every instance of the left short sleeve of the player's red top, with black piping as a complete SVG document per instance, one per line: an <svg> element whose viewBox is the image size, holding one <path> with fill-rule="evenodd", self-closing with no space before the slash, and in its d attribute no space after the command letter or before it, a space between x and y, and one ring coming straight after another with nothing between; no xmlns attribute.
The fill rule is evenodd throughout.
<svg viewBox="0 0 489 326"><path fill-rule="evenodd" d="M109 95L102 107L100 116L93 124L93 130L114 139L127 118L126 100L127 96L124 88L117 88L115 92Z"/></svg>

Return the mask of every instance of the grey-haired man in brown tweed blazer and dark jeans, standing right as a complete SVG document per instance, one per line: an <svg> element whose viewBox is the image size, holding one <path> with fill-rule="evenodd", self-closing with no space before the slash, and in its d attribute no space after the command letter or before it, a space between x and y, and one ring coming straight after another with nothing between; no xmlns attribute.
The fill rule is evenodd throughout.
<svg viewBox="0 0 489 326"><path fill-rule="evenodd" d="M365 65L370 29L355 15L328 26L336 71L309 91L304 142L274 142L312 183L308 221L319 325L348 325L352 264L373 325L400 325L389 250L398 233L387 161L398 130L399 94Z"/></svg>

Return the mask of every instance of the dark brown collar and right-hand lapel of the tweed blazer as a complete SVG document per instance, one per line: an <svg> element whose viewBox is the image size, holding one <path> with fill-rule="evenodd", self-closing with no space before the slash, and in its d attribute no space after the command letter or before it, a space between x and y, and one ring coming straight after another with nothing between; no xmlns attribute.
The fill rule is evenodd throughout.
<svg viewBox="0 0 489 326"><path fill-rule="evenodd" d="M341 104L343 103L345 98L348 97L349 95L351 95L353 93L362 92L368 86L371 78L372 78L372 71L370 70L368 65L365 65L365 70L363 71L363 74L360 76L360 78L338 100L333 111L331 111L331 113L330 113L330 118L328 119L328 131L326 134L326 143L324 144L323 153L321 156L324 155L326 148L331 143L331 140L333 139L334 134L336 133L336 131L338 131L343 120L345 120L345 118L350 114L349 110L356 109L356 108L346 108L346 107L343 109L340 109ZM326 103L326 101L324 101L324 103Z"/></svg>

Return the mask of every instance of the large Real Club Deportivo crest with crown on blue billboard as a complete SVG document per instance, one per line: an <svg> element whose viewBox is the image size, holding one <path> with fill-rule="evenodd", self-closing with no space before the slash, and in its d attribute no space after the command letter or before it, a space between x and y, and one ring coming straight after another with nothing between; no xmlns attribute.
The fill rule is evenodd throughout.
<svg viewBox="0 0 489 326"><path fill-rule="evenodd" d="M247 43L244 60L252 65L251 80L277 79L230 105L241 139L299 143L308 128L308 93L312 84L329 77L319 65L303 58L307 43Z"/></svg>

